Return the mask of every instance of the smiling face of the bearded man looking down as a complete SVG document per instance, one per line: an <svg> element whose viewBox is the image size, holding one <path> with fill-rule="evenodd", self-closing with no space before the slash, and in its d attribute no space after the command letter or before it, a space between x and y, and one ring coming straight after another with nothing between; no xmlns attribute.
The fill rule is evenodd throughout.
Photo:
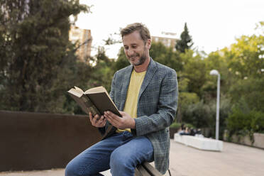
<svg viewBox="0 0 264 176"><path fill-rule="evenodd" d="M142 65L148 57L150 40L144 43L140 33L138 31L134 31L133 33L123 36L123 48L126 53L126 57L132 65Z"/></svg>

